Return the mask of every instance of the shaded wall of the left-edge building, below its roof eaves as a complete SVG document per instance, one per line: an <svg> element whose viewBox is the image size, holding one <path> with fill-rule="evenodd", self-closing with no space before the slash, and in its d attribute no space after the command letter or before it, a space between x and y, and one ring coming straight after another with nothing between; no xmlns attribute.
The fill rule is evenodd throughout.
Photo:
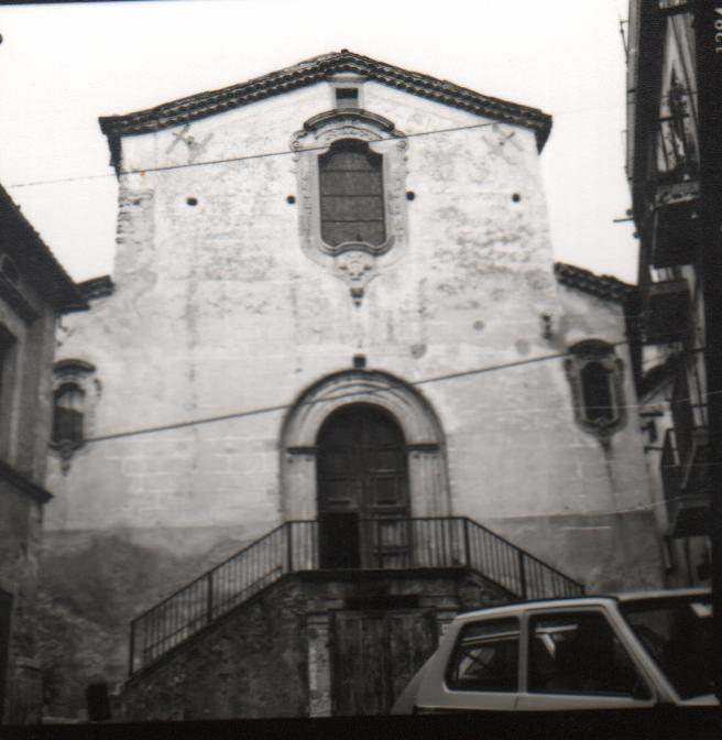
<svg viewBox="0 0 722 740"><path fill-rule="evenodd" d="M7 196L4 196L7 197ZM10 229L8 229L10 232ZM4 252L7 246L0 244ZM3 281L6 278L3 276ZM12 295L12 301L6 301ZM20 306L20 307L19 307ZM0 383L0 592L10 609L0 721L41 717L41 672L35 660L35 602L41 547L42 488L52 415L55 312L24 275L0 292L0 326L13 337ZM3 616L4 617L4 616ZM0 650L6 635L0 635ZM7 662L6 662L7 661Z"/></svg>

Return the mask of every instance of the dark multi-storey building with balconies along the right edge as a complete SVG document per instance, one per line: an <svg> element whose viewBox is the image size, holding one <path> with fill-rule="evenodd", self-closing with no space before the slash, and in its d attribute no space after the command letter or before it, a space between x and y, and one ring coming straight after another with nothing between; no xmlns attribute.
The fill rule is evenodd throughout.
<svg viewBox="0 0 722 740"><path fill-rule="evenodd" d="M639 239L631 346L645 446L658 481L667 583L709 583L710 438L702 281L694 15L630 4L627 177Z"/></svg>

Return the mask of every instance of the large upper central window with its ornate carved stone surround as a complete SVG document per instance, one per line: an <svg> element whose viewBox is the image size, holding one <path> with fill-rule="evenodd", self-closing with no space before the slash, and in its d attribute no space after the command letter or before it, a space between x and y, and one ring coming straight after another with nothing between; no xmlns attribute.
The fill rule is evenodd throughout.
<svg viewBox="0 0 722 740"><path fill-rule="evenodd" d="M406 139L381 116L342 109L306 121L291 148L302 249L360 305L406 250Z"/></svg>

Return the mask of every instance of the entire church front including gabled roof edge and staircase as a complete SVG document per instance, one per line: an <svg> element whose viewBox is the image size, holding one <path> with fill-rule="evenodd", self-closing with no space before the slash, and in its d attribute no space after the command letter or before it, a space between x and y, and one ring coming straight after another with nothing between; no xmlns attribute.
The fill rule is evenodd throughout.
<svg viewBox="0 0 722 740"><path fill-rule="evenodd" d="M263 716L292 674L274 714L371 714L406 674L341 696L338 645L379 624L418 662L462 608L660 585L632 289L554 266L548 116L342 51L100 122L116 265L61 331L48 463L58 705L130 650L135 719ZM228 645L271 622L243 683L259 643ZM194 660L215 698L177 688Z"/></svg>

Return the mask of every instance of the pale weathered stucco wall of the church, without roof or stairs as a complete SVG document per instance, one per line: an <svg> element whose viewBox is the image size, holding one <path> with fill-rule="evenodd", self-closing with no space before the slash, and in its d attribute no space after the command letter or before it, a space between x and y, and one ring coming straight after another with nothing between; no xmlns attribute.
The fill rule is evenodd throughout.
<svg viewBox="0 0 722 740"><path fill-rule="evenodd" d="M315 438L351 401L398 421L412 515L473 518L592 591L659 583L628 372L609 439L576 423L564 353L623 340L623 317L555 279L535 132L373 80L360 106L392 133L353 111L314 122L333 89L116 143L114 291L59 349L95 368L89 440L48 463L45 623L80 628L50 652L92 655L77 686L122 679L132 616L315 518ZM391 162L383 254L314 252L308 157L340 135Z"/></svg>

